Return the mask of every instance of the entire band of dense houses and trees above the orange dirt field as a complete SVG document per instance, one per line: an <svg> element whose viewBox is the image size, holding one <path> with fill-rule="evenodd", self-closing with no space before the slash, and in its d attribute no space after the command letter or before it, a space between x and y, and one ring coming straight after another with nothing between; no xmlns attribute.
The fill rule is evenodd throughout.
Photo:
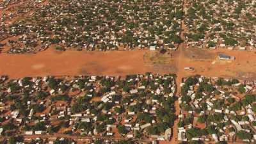
<svg viewBox="0 0 256 144"><path fill-rule="evenodd" d="M243 51L256 44L253 0L24 1L8 8L16 3L1 4L0 42L10 38L10 53L51 45L59 51L175 50L182 42Z"/></svg>

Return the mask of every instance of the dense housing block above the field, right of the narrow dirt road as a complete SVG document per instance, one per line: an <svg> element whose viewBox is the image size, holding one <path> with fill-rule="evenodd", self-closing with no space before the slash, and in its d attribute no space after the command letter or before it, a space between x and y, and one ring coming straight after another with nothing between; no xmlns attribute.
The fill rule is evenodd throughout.
<svg viewBox="0 0 256 144"><path fill-rule="evenodd" d="M189 47L255 49L256 1L186 2L185 39Z"/></svg>

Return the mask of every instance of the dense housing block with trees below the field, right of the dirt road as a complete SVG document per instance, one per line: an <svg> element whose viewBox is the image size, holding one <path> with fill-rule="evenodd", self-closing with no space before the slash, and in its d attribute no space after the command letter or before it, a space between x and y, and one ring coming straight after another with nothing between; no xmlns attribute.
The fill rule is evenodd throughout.
<svg viewBox="0 0 256 144"><path fill-rule="evenodd" d="M204 76L183 80L179 97L180 141L255 142L255 81Z"/></svg>

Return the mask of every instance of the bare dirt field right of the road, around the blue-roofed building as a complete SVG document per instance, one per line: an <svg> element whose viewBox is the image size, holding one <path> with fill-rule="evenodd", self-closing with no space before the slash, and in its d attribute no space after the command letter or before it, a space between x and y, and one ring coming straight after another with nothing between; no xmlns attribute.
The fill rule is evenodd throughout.
<svg viewBox="0 0 256 144"><path fill-rule="evenodd" d="M256 77L256 73L253 72L256 68L254 63L256 54L254 52L228 51L225 49L218 49L218 51L182 49L181 51L183 52L180 56L180 73L178 75L188 76L193 73L212 77L236 77L239 79L255 79ZM235 56L236 60L219 60L218 54L221 53ZM195 58L193 58L193 55L195 55ZM195 71L184 72L182 69L184 67L194 67Z"/></svg>

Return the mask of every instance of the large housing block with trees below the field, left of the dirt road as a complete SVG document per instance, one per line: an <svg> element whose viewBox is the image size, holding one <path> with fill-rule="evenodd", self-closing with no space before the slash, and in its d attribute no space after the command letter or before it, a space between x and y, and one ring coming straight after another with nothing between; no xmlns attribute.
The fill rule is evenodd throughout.
<svg viewBox="0 0 256 144"><path fill-rule="evenodd" d="M176 118L175 90L173 74L3 76L0 134L170 140Z"/></svg>

